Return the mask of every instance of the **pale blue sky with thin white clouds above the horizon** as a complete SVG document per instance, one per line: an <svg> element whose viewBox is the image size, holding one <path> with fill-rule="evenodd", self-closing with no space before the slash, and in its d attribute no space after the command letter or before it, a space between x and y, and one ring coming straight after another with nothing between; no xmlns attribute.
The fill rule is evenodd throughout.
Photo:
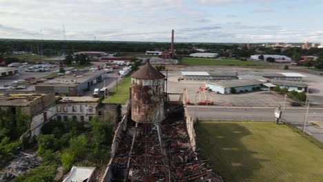
<svg viewBox="0 0 323 182"><path fill-rule="evenodd" d="M322 0L0 0L0 38L320 42Z"/></svg>

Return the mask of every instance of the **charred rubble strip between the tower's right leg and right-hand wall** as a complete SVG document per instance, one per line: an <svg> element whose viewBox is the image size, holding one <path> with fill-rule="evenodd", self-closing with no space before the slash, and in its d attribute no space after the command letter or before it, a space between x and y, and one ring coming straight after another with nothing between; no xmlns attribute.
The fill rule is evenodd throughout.
<svg viewBox="0 0 323 182"><path fill-rule="evenodd" d="M199 159L197 152L192 150L184 121L166 124L164 131L174 181L222 181L208 165L208 160Z"/></svg>

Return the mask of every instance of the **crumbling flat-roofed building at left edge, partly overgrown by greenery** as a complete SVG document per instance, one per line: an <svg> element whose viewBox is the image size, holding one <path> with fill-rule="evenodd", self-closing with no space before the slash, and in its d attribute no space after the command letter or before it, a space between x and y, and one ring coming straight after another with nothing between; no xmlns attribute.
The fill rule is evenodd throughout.
<svg viewBox="0 0 323 182"><path fill-rule="evenodd" d="M0 110L6 110L16 117L19 111L30 117L30 132L24 136L31 139L41 132L41 125L56 115L55 95L34 93L0 94Z"/></svg>

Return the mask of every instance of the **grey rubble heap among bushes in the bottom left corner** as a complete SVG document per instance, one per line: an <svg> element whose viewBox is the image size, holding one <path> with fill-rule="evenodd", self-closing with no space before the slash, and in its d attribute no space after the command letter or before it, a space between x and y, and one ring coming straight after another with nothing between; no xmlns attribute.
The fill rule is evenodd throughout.
<svg viewBox="0 0 323 182"><path fill-rule="evenodd" d="M36 154L28 154L11 161L9 165L2 170L0 181L11 181L15 177L36 168L41 163L41 158Z"/></svg>

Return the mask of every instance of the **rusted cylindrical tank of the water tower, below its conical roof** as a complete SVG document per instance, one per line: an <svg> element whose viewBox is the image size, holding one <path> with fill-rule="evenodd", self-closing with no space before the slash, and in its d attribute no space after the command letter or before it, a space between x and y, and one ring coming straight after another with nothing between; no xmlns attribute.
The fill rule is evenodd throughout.
<svg viewBox="0 0 323 182"><path fill-rule="evenodd" d="M138 123L163 121L164 78L131 79L131 119Z"/></svg>

